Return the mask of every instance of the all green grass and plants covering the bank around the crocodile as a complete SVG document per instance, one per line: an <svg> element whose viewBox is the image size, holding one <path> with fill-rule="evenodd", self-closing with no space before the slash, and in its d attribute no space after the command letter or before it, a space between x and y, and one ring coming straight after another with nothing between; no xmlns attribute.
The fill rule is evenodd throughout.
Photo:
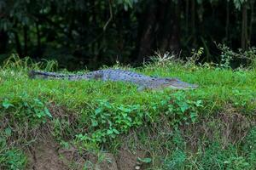
<svg viewBox="0 0 256 170"><path fill-rule="evenodd" d="M230 114L227 117L237 113L255 121L253 69L232 71L172 61L137 69L114 66L149 76L178 77L200 86L186 91L139 92L136 86L124 82L31 80L26 75L28 70L41 67L50 71L55 63L30 63L29 59L10 59L0 70L0 139L4 141L0 146L0 168L26 166L22 150L40 138L40 134L35 137L31 133L40 132L40 127L49 127L49 133L61 144L113 153L119 149L123 136L135 131L137 143L150 148L149 167L153 169L255 167L253 125L241 127L248 132L241 139L227 137L226 141L219 131L225 125L218 118L220 112ZM195 136L197 129L189 131L182 127L201 125L211 127L212 136L198 132L198 143L192 151L186 135ZM24 132L30 134L25 136ZM127 142L136 145L133 139Z"/></svg>

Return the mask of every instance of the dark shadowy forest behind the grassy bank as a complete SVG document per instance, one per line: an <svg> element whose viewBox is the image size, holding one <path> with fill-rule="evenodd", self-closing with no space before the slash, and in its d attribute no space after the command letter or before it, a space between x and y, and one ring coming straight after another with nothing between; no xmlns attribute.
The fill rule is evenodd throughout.
<svg viewBox="0 0 256 170"><path fill-rule="evenodd" d="M0 61L56 59L69 70L139 65L155 51L218 62L217 44L256 42L255 0L0 0Z"/></svg>

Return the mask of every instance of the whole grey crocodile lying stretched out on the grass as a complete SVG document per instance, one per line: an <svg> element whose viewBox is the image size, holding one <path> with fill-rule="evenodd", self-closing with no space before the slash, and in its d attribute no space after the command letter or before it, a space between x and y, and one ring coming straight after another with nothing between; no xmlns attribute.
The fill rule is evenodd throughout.
<svg viewBox="0 0 256 170"><path fill-rule="evenodd" d="M170 77L149 77L133 71L105 69L99 71L91 71L85 74L59 74L55 72L30 71L30 78L43 79L67 79L69 81L76 80L102 80L113 82L131 82L138 86L138 90L143 89L159 89L159 88L176 88L176 89L193 89L198 88L195 84L182 82L177 78Z"/></svg>

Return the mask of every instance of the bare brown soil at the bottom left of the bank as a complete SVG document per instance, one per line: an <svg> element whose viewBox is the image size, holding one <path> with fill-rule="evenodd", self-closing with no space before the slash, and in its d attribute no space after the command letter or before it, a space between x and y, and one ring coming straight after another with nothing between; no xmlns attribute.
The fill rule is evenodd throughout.
<svg viewBox="0 0 256 170"><path fill-rule="evenodd" d="M117 156L110 153L93 153L79 155L75 148L62 150L54 139L48 137L34 144L27 153L29 157L28 170L69 170L69 169L97 169L97 170L135 170L143 169L137 158L145 157L145 152L137 150L131 152L121 148Z"/></svg>

